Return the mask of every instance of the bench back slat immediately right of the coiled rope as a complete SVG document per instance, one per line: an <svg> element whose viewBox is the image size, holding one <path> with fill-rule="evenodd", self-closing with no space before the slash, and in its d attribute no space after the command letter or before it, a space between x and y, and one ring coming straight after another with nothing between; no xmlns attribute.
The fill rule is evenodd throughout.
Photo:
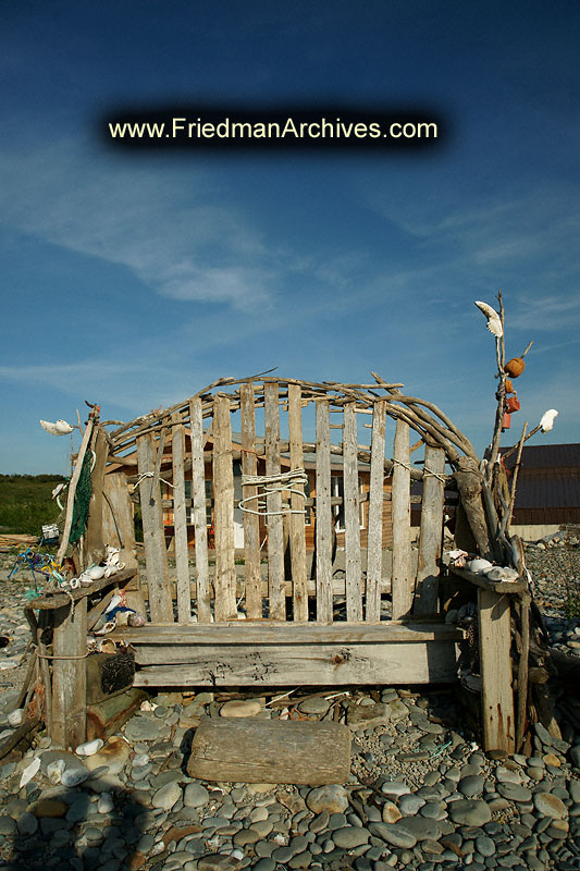
<svg viewBox="0 0 580 871"><path fill-rule="evenodd" d="M332 507L330 406L317 402L317 621L332 623Z"/></svg>

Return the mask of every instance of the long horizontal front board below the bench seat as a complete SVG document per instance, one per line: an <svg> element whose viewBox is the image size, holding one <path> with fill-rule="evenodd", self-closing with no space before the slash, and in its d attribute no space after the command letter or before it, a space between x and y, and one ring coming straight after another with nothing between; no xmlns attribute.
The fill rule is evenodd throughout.
<svg viewBox="0 0 580 871"><path fill-rule="evenodd" d="M298 624L299 625L299 624ZM136 650L135 686L346 686L349 684L427 684L457 679L453 641L395 645L337 641L333 645L195 646L184 663L173 663L175 648ZM161 655L159 655L161 651ZM158 659L156 659L158 657ZM161 664L159 664L161 663Z"/></svg>

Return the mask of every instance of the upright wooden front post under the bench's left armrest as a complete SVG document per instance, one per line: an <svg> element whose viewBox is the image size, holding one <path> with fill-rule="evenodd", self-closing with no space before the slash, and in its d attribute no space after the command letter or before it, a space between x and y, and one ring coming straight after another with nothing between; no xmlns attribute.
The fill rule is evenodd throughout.
<svg viewBox="0 0 580 871"><path fill-rule="evenodd" d="M52 664L52 741L75 749L86 736L87 600L55 609ZM62 658L62 659L61 659Z"/></svg>

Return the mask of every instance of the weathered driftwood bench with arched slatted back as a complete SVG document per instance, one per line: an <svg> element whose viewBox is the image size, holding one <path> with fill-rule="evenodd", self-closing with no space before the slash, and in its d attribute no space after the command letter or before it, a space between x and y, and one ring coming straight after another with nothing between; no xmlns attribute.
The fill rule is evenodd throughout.
<svg viewBox="0 0 580 871"><path fill-rule="evenodd" d="M147 613L145 626L111 635L134 651L135 686L457 680L464 633L445 623L441 584L445 488L453 483L446 464L455 470L467 457L477 469L477 457L435 406L378 377L374 385L226 380L112 432L94 413L85 441L96 462L75 559L81 569L113 544L126 568L75 591L74 608L62 592L28 606L55 744L75 747L85 737L86 636L114 589ZM422 467L412 464L419 447ZM146 582L135 555L135 504ZM420 513L415 560L411 508ZM490 548L471 491L458 512L473 550ZM481 587L485 746L511 751L506 593L520 588L458 574Z"/></svg>

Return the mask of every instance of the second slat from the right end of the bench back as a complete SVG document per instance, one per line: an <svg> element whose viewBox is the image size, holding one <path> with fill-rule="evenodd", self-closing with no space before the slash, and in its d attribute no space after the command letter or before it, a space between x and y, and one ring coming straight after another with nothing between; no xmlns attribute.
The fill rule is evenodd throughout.
<svg viewBox="0 0 580 871"><path fill-rule="evenodd" d="M397 420L393 451L393 619L412 606L409 425Z"/></svg>

